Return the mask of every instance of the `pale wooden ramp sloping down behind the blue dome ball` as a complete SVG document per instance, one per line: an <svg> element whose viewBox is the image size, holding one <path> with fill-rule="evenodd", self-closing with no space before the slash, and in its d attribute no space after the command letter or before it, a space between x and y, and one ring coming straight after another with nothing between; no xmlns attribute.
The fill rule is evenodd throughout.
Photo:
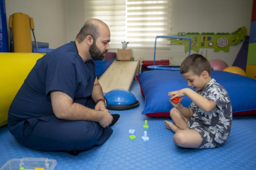
<svg viewBox="0 0 256 170"><path fill-rule="evenodd" d="M99 79L103 93L108 93L113 89L126 89L129 91L134 75L138 73L139 60L113 61Z"/></svg>

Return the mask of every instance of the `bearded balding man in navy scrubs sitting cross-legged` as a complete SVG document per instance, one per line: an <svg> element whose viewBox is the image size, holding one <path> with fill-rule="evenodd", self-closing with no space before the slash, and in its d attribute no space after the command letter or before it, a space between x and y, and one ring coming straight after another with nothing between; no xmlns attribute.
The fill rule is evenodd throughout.
<svg viewBox="0 0 256 170"><path fill-rule="evenodd" d="M109 42L108 26L88 20L74 42L37 60L9 108L8 127L21 145L77 155L110 137L119 117L106 109L93 62Z"/></svg>

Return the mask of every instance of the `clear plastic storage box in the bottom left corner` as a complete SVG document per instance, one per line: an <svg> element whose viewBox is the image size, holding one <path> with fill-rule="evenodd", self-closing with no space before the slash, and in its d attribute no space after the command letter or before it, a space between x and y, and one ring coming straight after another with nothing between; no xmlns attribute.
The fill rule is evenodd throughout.
<svg viewBox="0 0 256 170"><path fill-rule="evenodd" d="M35 168L52 170L56 164L57 161L54 159L23 157L22 159L9 160L0 170L19 170L21 167L25 170L34 170Z"/></svg>

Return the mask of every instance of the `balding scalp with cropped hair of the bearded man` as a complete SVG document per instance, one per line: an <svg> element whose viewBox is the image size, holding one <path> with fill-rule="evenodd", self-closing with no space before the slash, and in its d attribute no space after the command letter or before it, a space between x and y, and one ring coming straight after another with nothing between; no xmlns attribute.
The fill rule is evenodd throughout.
<svg viewBox="0 0 256 170"><path fill-rule="evenodd" d="M81 28L78 35L76 36L76 40L78 41L78 43L83 42L83 40L88 35L90 35L93 38L93 40L96 42L97 38L100 35L100 26L107 26L107 25L103 21L98 19L91 19L86 21L83 28Z"/></svg>

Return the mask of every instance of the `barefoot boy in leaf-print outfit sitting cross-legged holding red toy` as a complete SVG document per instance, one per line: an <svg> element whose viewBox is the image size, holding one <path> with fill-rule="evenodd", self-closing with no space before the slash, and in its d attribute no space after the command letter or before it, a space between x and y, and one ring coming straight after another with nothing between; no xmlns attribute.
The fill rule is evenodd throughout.
<svg viewBox="0 0 256 170"><path fill-rule="evenodd" d="M170 111L172 122L165 120L166 128L175 135L175 144L185 148L214 148L223 145L230 135L232 125L231 101L226 89L211 78L211 65L200 54L189 55L180 65L180 73L194 88L172 91ZM192 102L189 108L173 99L188 96Z"/></svg>

